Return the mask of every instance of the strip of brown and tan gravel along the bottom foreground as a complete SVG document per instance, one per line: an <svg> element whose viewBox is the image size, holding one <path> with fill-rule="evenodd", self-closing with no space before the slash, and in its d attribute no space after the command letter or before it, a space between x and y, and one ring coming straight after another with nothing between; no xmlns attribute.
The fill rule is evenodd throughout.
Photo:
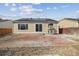
<svg viewBox="0 0 79 59"><path fill-rule="evenodd" d="M77 56L71 46L1 48L1 56Z"/></svg>

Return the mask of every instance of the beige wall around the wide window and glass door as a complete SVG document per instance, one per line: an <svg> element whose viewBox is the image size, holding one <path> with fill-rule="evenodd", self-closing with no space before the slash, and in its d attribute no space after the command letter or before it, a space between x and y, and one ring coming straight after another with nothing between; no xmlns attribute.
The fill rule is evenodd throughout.
<svg viewBox="0 0 79 59"><path fill-rule="evenodd" d="M18 24L24 24L24 23L14 23L13 26L13 33L35 33L35 24L42 24L42 32L48 33L48 23L25 23L28 24L28 30L18 30Z"/></svg>

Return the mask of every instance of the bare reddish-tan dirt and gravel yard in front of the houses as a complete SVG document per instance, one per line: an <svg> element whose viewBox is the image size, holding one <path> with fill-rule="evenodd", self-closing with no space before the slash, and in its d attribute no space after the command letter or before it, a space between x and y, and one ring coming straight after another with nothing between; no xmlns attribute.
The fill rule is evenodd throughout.
<svg viewBox="0 0 79 59"><path fill-rule="evenodd" d="M2 56L78 56L79 41L66 35L10 34L0 38Z"/></svg>

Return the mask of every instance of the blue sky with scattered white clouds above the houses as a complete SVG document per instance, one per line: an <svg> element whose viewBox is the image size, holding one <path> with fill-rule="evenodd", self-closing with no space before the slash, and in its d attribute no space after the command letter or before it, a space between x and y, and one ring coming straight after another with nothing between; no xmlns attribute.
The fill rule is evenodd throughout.
<svg viewBox="0 0 79 59"><path fill-rule="evenodd" d="M78 3L1 3L0 17L19 18L79 18Z"/></svg>

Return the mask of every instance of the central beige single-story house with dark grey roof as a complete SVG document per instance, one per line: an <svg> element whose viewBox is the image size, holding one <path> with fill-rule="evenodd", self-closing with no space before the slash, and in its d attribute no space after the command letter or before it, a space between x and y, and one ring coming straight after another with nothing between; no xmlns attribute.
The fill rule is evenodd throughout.
<svg viewBox="0 0 79 59"><path fill-rule="evenodd" d="M22 18L13 21L13 33L57 33L57 21L47 18Z"/></svg>

